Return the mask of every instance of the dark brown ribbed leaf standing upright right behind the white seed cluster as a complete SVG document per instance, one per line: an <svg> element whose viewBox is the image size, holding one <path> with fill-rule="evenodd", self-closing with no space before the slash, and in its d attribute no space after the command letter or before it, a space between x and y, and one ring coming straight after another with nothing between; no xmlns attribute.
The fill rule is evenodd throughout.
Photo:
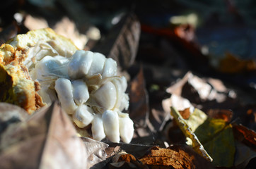
<svg viewBox="0 0 256 169"><path fill-rule="evenodd" d="M139 20L135 15L127 14L91 51L98 51L107 58L113 58L122 68L128 68L134 63L140 32Z"/></svg>

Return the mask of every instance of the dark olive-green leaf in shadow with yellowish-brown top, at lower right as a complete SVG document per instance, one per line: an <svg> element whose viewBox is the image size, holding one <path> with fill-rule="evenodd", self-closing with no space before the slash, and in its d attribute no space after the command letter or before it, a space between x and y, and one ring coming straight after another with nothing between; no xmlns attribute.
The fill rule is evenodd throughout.
<svg viewBox="0 0 256 169"><path fill-rule="evenodd" d="M235 140L232 126L225 120L207 118L197 127L194 134L204 145L207 153L214 159L216 166L233 166L235 157Z"/></svg>

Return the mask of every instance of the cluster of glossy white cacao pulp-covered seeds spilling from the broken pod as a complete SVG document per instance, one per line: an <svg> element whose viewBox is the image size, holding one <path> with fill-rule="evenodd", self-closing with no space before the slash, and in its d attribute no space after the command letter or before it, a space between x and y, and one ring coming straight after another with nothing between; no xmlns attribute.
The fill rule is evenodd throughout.
<svg viewBox="0 0 256 169"><path fill-rule="evenodd" d="M45 103L59 99L77 127L91 124L93 139L105 137L111 142L129 143L134 123L127 113L129 96L127 80L117 76L117 63L112 58L92 51L78 50L65 56L45 56L30 70L41 89Z"/></svg>

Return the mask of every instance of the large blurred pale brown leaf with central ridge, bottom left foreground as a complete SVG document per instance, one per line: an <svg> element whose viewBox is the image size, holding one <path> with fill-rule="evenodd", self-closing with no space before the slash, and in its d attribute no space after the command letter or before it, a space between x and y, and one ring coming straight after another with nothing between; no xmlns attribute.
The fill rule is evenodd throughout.
<svg viewBox="0 0 256 169"><path fill-rule="evenodd" d="M95 153L105 149L97 142L84 144L57 103L8 127L0 146L0 168L90 168L104 159ZM86 152L88 146L93 150Z"/></svg>

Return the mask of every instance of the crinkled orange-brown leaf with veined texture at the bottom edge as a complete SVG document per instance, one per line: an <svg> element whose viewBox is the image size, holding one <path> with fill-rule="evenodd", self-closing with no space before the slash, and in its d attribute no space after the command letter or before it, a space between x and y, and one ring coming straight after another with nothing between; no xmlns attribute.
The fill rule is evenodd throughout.
<svg viewBox="0 0 256 169"><path fill-rule="evenodd" d="M150 168L213 168L209 161L195 153L189 146L170 146L167 149L154 146L139 158Z"/></svg>

